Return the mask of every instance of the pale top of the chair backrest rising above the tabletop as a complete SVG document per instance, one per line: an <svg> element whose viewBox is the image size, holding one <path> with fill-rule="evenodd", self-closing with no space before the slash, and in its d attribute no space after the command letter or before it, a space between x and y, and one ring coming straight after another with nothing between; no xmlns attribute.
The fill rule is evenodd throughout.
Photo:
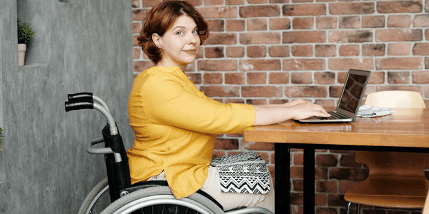
<svg viewBox="0 0 429 214"><path fill-rule="evenodd" d="M426 108L423 97L415 91L380 91L370 93L365 104L380 108Z"/></svg>

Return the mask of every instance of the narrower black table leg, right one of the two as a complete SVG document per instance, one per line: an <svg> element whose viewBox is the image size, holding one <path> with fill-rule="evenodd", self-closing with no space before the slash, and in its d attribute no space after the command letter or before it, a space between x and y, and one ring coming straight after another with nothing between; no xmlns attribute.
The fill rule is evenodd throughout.
<svg viewBox="0 0 429 214"><path fill-rule="evenodd" d="M304 213L315 213L314 165L314 148L304 148Z"/></svg>

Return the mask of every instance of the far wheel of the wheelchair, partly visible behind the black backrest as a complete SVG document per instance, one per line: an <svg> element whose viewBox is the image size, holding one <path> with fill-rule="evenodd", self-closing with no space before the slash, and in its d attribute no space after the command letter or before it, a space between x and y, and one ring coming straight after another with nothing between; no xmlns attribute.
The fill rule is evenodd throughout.
<svg viewBox="0 0 429 214"><path fill-rule="evenodd" d="M107 178L104 178L88 193L78 214L101 213L110 204L109 183Z"/></svg>

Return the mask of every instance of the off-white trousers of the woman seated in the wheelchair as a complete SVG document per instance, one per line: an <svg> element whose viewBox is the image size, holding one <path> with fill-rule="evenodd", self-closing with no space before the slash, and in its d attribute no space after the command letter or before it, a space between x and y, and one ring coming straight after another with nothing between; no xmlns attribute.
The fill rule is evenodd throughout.
<svg viewBox="0 0 429 214"><path fill-rule="evenodd" d="M164 171L158 176L152 176L148 180L166 180ZM219 180L219 171L217 171L217 167L209 166L208 178L206 182L204 182L203 187L201 187L201 190L217 200L225 211L234 209L238 206L260 206L274 213L274 187L271 178L270 185L271 190L267 194L223 193L221 191L221 182Z"/></svg>

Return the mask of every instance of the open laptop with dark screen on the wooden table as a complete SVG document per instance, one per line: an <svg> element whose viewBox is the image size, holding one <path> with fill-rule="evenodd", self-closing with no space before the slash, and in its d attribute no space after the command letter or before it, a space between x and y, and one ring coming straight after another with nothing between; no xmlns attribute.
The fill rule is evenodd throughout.
<svg viewBox="0 0 429 214"><path fill-rule="evenodd" d="M355 121L370 71L350 69L335 111L328 111L331 117L309 117L300 119L302 123L342 123Z"/></svg>

